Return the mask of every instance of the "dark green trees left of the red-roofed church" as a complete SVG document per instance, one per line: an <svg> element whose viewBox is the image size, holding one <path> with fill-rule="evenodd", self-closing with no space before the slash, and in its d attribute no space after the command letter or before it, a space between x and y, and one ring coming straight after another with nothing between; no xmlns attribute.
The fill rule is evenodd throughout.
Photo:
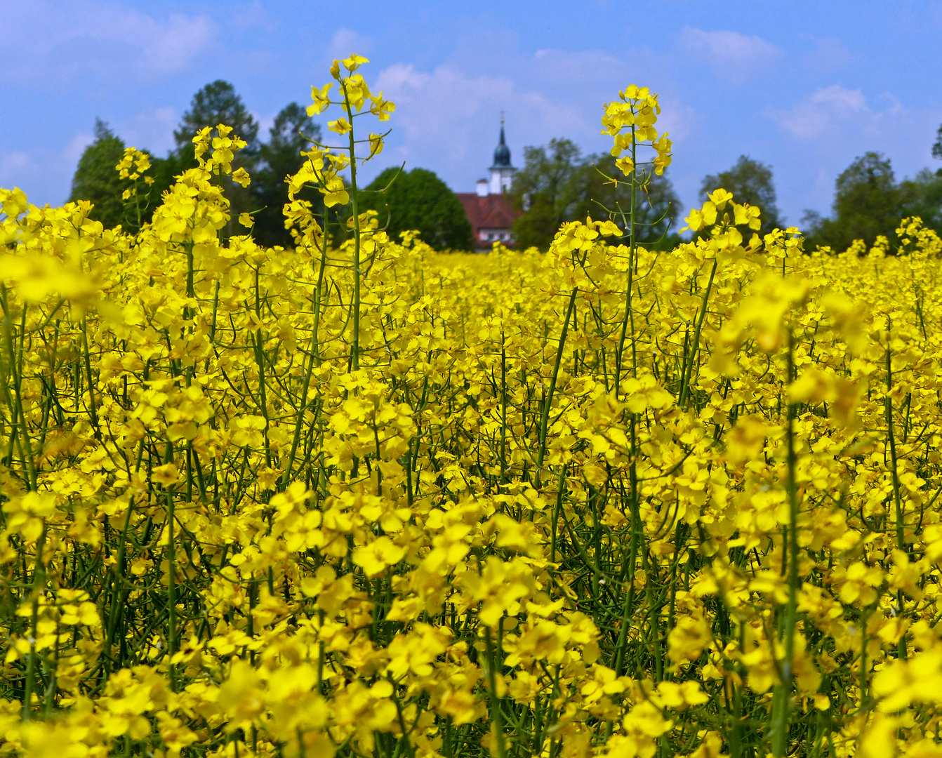
<svg viewBox="0 0 942 758"><path fill-rule="evenodd" d="M252 214L255 241L267 246L289 246L291 237L284 229L282 208L288 201L284 177L300 169L302 150L312 140L321 138L320 125L297 103L285 105L268 130L268 140L259 137L259 124L246 107L235 87L221 79L200 89L190 102L179 126L173 132L175 147L166 157L151 155L149 200L142 222L149 221L161 195L170 188L175 176L196 167L192 137L206 126L224 123L246 141L236 153L234 168L244 168L252 175L248 187L223 178L223 190L230 202L232 218L243 212ZM124 142L101 120L95 121L94 141L78 161L72 182L70 201L94 203L90 217L113 228L130 219L125 213L122 192L131 183L122 180L115 165L121 160ZM144 151L147 153L147 151ZM311 202L319 218L325 212L320 193L302 190L301 200ZM471 225L464 216L458 197L447 185L427 169L386 169L358 193L362 210L376 210L380 223L394 238L406 231L417 230L420 237L436 250L470 250ZM349 206L328 209L335 241L347 234ZM230 229L230 234L235 230Z"/></svg>

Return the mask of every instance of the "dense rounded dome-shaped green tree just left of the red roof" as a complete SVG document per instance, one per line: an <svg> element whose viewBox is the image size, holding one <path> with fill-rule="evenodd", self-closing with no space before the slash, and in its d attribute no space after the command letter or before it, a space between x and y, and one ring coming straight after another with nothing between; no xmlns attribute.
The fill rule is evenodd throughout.
<svg viewBox="0 0 942 758"><path fill-rule="evenodd" d="M462 202L433 171L385 169L361 191L358 202L361 212L377 211L380 226L394 239L416 230L435 250L471 250L471 224Z"/></svg>

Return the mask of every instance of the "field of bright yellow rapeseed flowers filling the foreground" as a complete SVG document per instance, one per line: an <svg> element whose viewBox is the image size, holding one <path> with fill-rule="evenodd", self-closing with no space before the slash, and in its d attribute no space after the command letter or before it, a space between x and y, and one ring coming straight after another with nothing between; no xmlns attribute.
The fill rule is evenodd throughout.
<svg viewBox="0 0 942 758"><path fill-rule="evenodd" d="M363 62L317 112L388 114ZM918 219L809 254L717 189L670 252L481 257L292 201L269 250L194 143L138 234L0 190L0 755L942 755Z"/></svg>

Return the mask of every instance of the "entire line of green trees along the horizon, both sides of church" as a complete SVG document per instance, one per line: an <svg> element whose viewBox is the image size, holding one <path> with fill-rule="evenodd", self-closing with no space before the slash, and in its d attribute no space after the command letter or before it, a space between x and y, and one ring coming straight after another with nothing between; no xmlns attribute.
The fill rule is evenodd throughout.
<svg viewBox="0 0 942 758"><path fill-rule="evenodd" d="M228 181L224 186L232 207L232 217L250 212L252 233L259 244L291 244L284 229L282 208L287 202L284 177L295 173L304 160L300 155L311 140L319 140L321 130L305 108L290 103L275 117L268 139L259 137L259 124L229 82L217 80L200 89L190 102L179 126L173 132L175 147L166 157L151 156L154 179L143 220L147 221L162 193L173 178L197 165L193 135L206 126L225 123L234 127L247 146L236 154L234 167L252 175L248 187ZM114 169L121 160L124 142L104 121L96 120L94 141L79 159L73 176L70 200L94 203L91 218L107 227L127 224L122 191L129 185ZM942 159L942 125L933 146L935 158ZM237 166L236 166L237 164ZM618 181L612 181L616 179ZM701 201L707 193L723 186L739 202L762 210L760 234L782 227L776 205L772 169L749 155L740 155L735 165L704 177ZM609 153L583 154L575 142L560 137L547 145L524 148L524 166L513 177L510 194L520 214L513 225L518 247L546 249L565 221L577 218L625 218L630 207L630 184L615 167ZM325 212L320 194L305 190L302 200L312 203L314 212ZM380 225L393 238L417 230L419 236L437 250L470 250L471 226L462 203L448 186L428 169L385 169L358 197L363 209L377 211ZM329 210L336 235L343 237L346 218L341 208ZM882 153L865 153L836 179L831 214L823 217L806 211L799 226L806 247L829 246L845 250L855 239L871 246L877 236L892 239L901 218L919 216L923 223L942 233L942 169L923 169L911 179L896 180L890 159ZM679 241L678 229L683 209L669 176L644 178L636 193L636 238L649 246L665 249ZM230 230L234 233L233 230Z"/></svg>

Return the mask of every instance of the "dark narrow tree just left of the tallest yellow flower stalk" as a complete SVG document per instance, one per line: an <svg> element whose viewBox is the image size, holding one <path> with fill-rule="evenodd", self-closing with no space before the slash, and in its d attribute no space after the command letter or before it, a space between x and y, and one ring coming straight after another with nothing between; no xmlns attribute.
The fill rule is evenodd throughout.
<svg viewBox="0 0 942 758"><path fill-rule="evenodd" d="M252 229L259 244L291 244L291 235L284 229L282 213L284 203L288 202L284 177L300 169L304 162L300 152L310 147L310 139L320 139L320 126L307 115L304 107L291 103L275 117L268 131L268 142L259 146L258 168L250 185L254 205L261 209L254 216ZM305 188L298 197L311 202L317 215L323 212L322 196L316 189Z"/></svg>

